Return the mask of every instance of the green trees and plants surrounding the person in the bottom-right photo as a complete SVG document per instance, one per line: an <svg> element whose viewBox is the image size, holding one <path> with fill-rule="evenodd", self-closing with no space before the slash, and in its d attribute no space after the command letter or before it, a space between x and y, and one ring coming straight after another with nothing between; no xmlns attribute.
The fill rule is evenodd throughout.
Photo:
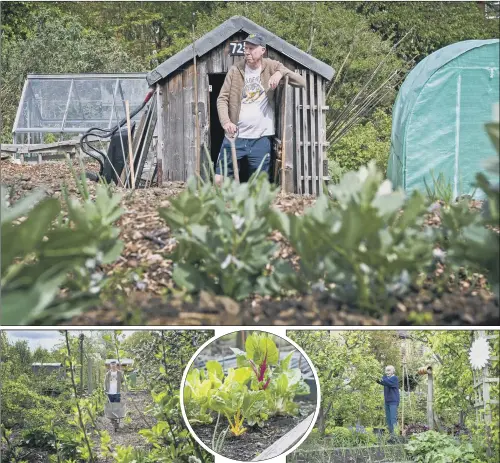
<svg viewBox="0 0 500 463"><path fill-rule="evenodd" d="M486 334L495 334L490 331ZM322 403L315 429L290 455L294 463L347 461L491 462L499 451L498 404L491 424L476 415L469 362L470 331L289 331L318 372ZM499 339L490 341L488 374L498 377ZM318 348L321 346L321 348ZM427 426L427 379L433 366L434 430ZM382 388L373 379L394 365L400 404L396 437L389 437ZM491 399L498 397L492 384ZM398 442L399 441L399 442ZM395 444L396 445L393 445Z"/></svg>

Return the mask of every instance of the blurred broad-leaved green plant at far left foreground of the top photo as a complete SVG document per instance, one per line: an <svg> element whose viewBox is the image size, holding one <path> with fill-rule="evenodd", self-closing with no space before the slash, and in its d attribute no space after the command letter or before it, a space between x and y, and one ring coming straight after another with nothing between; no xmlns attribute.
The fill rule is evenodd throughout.
<svg viewBox="0 0 500 463"><path fill-rule="evenodd" d="M120 196L97 186L90 198L84 178L73 174L82 200L59 200L34 193L10 205L1 188L2 309L11 325L71 316L94 304L102 285L98 266L121 252ZM62 296L61 288L67 294Z"/></svg>

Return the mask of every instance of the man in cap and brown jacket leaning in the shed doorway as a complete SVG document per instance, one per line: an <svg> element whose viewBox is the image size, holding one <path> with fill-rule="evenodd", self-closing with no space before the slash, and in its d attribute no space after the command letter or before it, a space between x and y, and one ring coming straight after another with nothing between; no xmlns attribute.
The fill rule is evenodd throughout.
<svg viewBox="0 0 500 463"><path fill-rule="evenodd" d="M219 120L226 137L217 159L215 181L221 183L224 156L227 160L227 175L234 175L231 145L227 137L236 139L238 161L247 158L249 175L262 171L269 175L271 137L275 133L274 91L281 79L288 76L290 85L305 87L306 80L286 68L279 61L263 58L266 42L259 34L250 34L245 39L245 60L232 66L226 75L217 98Z"/></svg>

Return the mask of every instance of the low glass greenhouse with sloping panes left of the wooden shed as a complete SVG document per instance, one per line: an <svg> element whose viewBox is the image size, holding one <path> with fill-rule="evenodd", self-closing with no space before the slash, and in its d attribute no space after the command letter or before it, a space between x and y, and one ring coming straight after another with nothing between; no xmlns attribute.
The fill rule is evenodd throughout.
<svg viewBox="0 0 500 463"><path fill-rule="evenodd" d="M12 129L14 143L43 143L92 127L110 128L125 117L125 101L132 111L147 92L145 73L30 74Z"/></svg>

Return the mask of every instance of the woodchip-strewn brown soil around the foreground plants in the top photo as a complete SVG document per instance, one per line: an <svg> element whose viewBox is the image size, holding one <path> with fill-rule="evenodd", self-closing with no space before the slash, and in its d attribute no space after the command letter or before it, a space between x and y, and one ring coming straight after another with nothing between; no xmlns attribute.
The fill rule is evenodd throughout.
<svg viewBox="0 0 500 463"><path fill-rule="evenodd" d="M64 162L18 165L1 161L2 184L9 187L14 201L32 190L42 188L48 196L60 197L61 184L77 193L70 170ZM79 165L74 161L76 171ZM96 172L95 162L85 169ZM96 184L87 181L91 194ZM369 313L317 293L293 298L251 297L241 303L228 298L201 294L198 297L175 295L173 263L168 254L175 246L169 228L158 214L169 199L184 188L182 182L167 182L162 188L121 190L125 213L118 221L124 250L120 258L105 268L114 290L99 306L69 320L69 325L498 325L498 301L488 289L484 275L459 275L449 280L444 267L390 310ZM282 211L302 214L315 199L299 195L279 196L274 206ZM481 203L473 201L473 208ZM439 208L429 213L427 223L438 226ZM296 261L293 250L278 232L271 239L280 243L280 256ZM168 294L168 296L166 296ZM51 324L54 324L51 320Z"/></svg>

